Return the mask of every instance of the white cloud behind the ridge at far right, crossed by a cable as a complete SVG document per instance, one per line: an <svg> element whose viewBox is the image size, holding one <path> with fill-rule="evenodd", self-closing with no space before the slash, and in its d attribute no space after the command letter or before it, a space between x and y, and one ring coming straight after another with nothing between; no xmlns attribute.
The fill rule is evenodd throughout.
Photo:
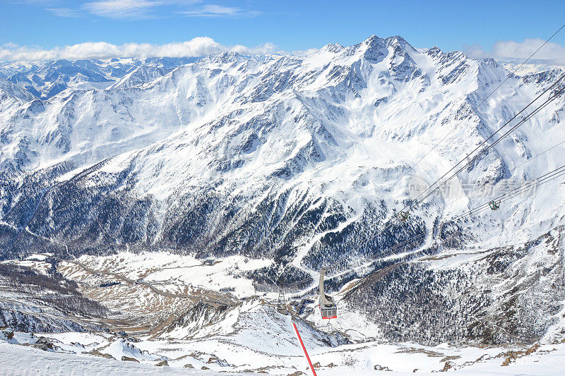
<svg viewBox="0 0 565 376"><path fill-rule="evenodd" d="M545 40L539 38L527 39L523 42L500 41L496 42L490 51L484 51L481 46L472 45L467 47L465 53L470 57L495 59L528 59L535 50L544 44ZM565 46L554 42L547 42L540 51L533 56L533 61L544 61L546 63L565 63Z"/></svg>

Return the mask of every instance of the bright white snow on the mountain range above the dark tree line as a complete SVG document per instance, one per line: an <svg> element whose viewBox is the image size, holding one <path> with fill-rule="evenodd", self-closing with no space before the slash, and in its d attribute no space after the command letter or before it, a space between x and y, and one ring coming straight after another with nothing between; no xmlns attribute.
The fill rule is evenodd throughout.
<svg viewBox="0 0 565 376"><path fill-rule="evenodd" d="M401 37L328 44L306 56L230 53L169 73L155 69L141 66L117 85L70 87L42 102L30 102L6 81L0 165L23 174L71 162L76 169L61 181L109 158L86 186L129 171L141 199L165 202L213 187L226 200L243 198L247 207L268 193L291 190L289 202L304 193L338 200L354 221L368 202L378 206L378 198L387 207L402 206L408 192L406 179L392 187L398 178L410 172L435 181L562 73L547 71L539 80L511 75L479 106L509 71L460 52L417 51ZM144 79L132 80L140 70ZM542 109L472 171L453 179L455 185L520 184L559 166L565 145L528 160L565 140L564 103L560 97ZM277 176L284 169L290 176ZM563 195L559 179L535 197L479 214L492 225L475 229L477 241L525 241L560 224L565 207L552 203L554 192ZM416 214L431 224L484 201L463 198L453 204L432 198ZM302 257L311 239L297 246Z"/></svg>

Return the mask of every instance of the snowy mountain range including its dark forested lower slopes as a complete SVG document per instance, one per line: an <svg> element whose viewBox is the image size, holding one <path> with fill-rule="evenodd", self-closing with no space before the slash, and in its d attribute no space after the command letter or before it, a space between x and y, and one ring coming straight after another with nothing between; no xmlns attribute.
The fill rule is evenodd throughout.
<svg viewBox="0 0 565 376"><path fill-rule="evenodd" d="M247 278L237 283L240 297L249 293L249 279L273 285L279 278L316 278L319 267L331 265L333 272L349 273L333 279L330 289L338 291L351 279L379 275L398 263L390 286L410 293L414 286L441 286L431 292L430 308L451 309L458 302L454 296L482 294L484 301L473 305L471 298L467 308L503 316L512 307L496 306L496 298L524 291L530 280L518 274L504 289L492 289L495 284L533 265L533 285L549 289L563 269L562 180L506 201L496 212L450 221L492 199L477 190L519 186L563 163L564 144L541 154L565 140L563 96L454 179L455 188L471 184L472 192L429 198L410 220L375 236L410 202L410 178L431 183L441 177L559 78L561 68L513 75L492 59L436 47L422 52L401 37L373 36L350 47L328 44L307 56L229 53L169 65L75 61L25 69L28 75L40 72L49 85L108 86L84 90L66 84L41 100L19 85L27 83L23 78L2 86L3 257L163 249L191 257L251 257L256 268L239 276ZM88 79L77 76L85 69ZM432 229L432 236L379 260L391 246ZM541 249L504 248L527 241L546 243ZM491 252L491 259L440 267L436 261L443 256L436 255L431 262L401 264L413 255L468 250ZM353 266L362 272L350 273ZM495 274L492 279L484 278L482 268ZM213 288L231 278L220 277ZM456 283L446 286L442 278ZM359 309L369 314L371 296L390 292L367 280L354 290L355 300L344 296L343 308L355 310L363 302ZM555 296L562 292L560 286ZM386 298L390 307L399 307L405 297ZM542 336L555 321L555 299L551 310L535 310L545 315L541 328L525 331L530 317L513 335ZM508 329L513 320L501 327ZM388 329L379 335L396 332ZM487 332L482 327L471 340L504 339ZM456 334L451 339L460 340Z"/></svg>

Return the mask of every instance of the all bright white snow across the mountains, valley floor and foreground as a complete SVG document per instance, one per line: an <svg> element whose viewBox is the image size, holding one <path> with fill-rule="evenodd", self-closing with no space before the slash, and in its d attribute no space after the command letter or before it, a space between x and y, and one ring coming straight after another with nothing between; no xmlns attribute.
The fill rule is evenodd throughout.
<svg viewBox="0 0 565 376"><path fill-rule="evenodd" d="M388 207L401 206L408 198L406 182L394 187L393 183L410 166L425 155L413 172L434 181L552 82L530 75L540 67L523 67L477 108L509 75L504 66L492 60L468 59L459 52L417 51L400 37L370 37L351 47L328 44L306 56L253 59L222 54L168 73L159 72L160 68L135 68L109 86L77 80L42 101L0 79L0 131L4 137L0 166L14 171L18 178L69 162L73 169L59 176L59 182L64 182L103 161L88 184L96 186L107 174L130 171L136 174L134 193L159 202L207 186L227 196L244 197L251 207L270 192L290 190L289 202L308 192L343 202L350 210L350 217L341 225L346 226L361 216L367 202L377 203L383 197ZM551 68L554 70L546 71L548 77L563 72L562 68ZM564 103L563 97L552 102L497 145L475 169L458 176L456 185L511 179L520 185L563 164L564 145L537 155L565 140ZM285 166L290 166L290 176L273 177ZM528 241L564 224L564 198L565 186L555 181L535 195L510 200L497 212L480 214L481 220L470 224L473 248ZM417 215L431 228L436 218L448 219L484 202L475 195L457 199L432 198ZM302 267L302 257L321 236L302 239L292 265ZM432 267L470 263L474 257L467 249ZM544 249L534 249L524 262L524 272L535 272L547 257ZM44 271L49 267L42 262L44 258L33 255L10 262ZM78 261L93 269L112 269L130 279L143 279L162 291L233 287L237 298L253 297L256 291L249 279L235 275L272 262L236 255L206 266L190 255L164 252L83 255ZM66 266L65 277L86 279L80 267ZM306 272L316 277L315 271ZM88 278L100 279L97 282L109 279ZM276 294L263 297L273 301ZM150 293L133 298L149 300ZM378 337L374 325L364 322L362 315L344 310L340 295L336 298L338 329L359 329L357 334L347 332L352 339ZM561 320L556 331L563 325L563 311L558 315ZM317 315L309 319L318 327L324 324ZM145 375L155 370L172 375L216 375L220 370L241 372L263 366L280 375L309 372L289 317L277 315L270 305L258 300L242 304L223 322L202 329L198 338L188 338L191 329L177 327L139 342L109 334L44 334L59 341L55 352L21 346L37 338L16 333L12 340L2 337L0 361L7 375ZM563 343L543 344L502 367L505 357L499 354L523 348L369 341L329 349L319 339L319 332L309 331L305 325L300 329L314 362L321 363L319 375L408 375L416 368L429 373L443 369L446 361L453 363L449 372L460 375L565 373ZM117 360L82 353L93 349ZM121 362L121 356L141 363ZM208 363L213 356L218 362ZM452 358L441 361L446 357ZM155 368L155 363L165 358L169 367ZM186 363L213 370L180 370ZM331 363L335 366L328 367ZM375 365L393 372L375 370Z"/></svg>

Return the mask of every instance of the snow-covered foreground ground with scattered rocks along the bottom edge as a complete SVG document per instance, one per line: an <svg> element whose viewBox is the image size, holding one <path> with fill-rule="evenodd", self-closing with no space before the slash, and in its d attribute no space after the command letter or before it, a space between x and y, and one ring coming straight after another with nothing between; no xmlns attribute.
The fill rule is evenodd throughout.
<svg viewBox="0 0 565 376"><path fill-rule="evenodd" d="M302 334L304 336L304 333ZM20 343L28 343L29 339L19 335ZM57 345L65 348L67 353L61 351L42 351L29 346L21 346L16 341L0 340L0 362L3 375L259 375L253 372L242 372L247 366L273 365L273 359L278 358L278 367L266 368L273 375L288 375L292 372L302 371L308 375L307 360L304 358L302 348L299 347L296 337L288 345L287 355L270 353L270 348L258 351L254 347L235 346L222 341L176 341L174 344L163 342L141 342L136 344L149 351L161 351L167 356L175 356L178 360L169 358L169 366L155 367L155 362L135 363L133 361L120 361L105 359L81 353L71 353L82 348L76 341L88 343L100 336L85 334L59 334L57 338L62 342ZM73 345L69 342L73 341ZM333 348L332 351L320 352L316 346L307 341L309 355L313 363L320 363L316 370L320 376L340 375L435 375L442 370L445 363L451 365L448 372L456 375L562 375L565 372L565 344L547 344L536 348L528 355L518 356L509 365L503 366L509 351L523 351L521 348L456 348L448 345L424 347L416 344L376 344L365 343L345 345ZM252 345L252 344L250 344ZM95 346L95 344L94 344ZM257 344L255 347L260 347ZM93 345L85 346L86 349ZM173 349L176 348L176 349ZM223 349L222 349L223 348ZM241 367L232 368L215 366L213 370L199 370L203 365L210 363L194 358L195 351L219 351L229 353L231 358L227 362L237 360L243 364ZM279 348L280 349L280 348ZM104 351L102 351L104 352ZM222 354L222 352L218 352ZM286 352L286 351L285 351ZM119 352L121 354L121 352ZM118 355L119 355L118 354ZM135 353L128 353L136 358ZM193 354L193 355L190 355ZM184 355L184 356L183 356ZM446 358L449 357L449 358ZM205 357L206 358L206 357ZM447 360L446 360L447 359ZM143 360L142 360L143 362ZM187 363L194 369L184 368ZM333 365L331 365L333 364ZM330 365L329 367L327 365ZM316 366L317 367L317 366ZM376 367L383 370L376 370ZM221 370L221 368L225 368ZM385 371L386 369L390 371ZM220 372L220 370L222 372ZM416 371L415 371L416 370ZM433 373L432 373L433 372Z"/></svg>

